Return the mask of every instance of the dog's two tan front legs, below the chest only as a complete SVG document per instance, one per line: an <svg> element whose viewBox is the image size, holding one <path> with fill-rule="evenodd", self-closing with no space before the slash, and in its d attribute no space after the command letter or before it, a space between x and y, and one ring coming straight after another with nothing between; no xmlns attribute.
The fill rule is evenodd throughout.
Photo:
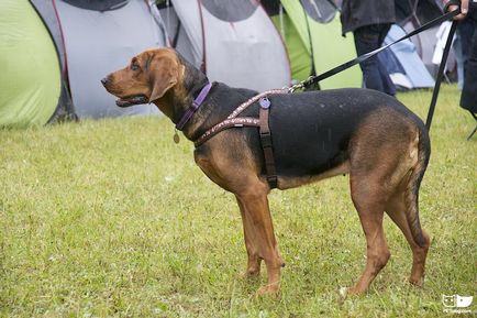
<svg viewBox="0 0 477 318"><path fill-rule="evenodd" d="M260 260L267 266L268 283L257 290L259 295L279 290L280 270L284 266L275 239L267 194L268 187L260 182L249 185L244 193L236 194L248 253L247 273L258 274Z"/></svg>

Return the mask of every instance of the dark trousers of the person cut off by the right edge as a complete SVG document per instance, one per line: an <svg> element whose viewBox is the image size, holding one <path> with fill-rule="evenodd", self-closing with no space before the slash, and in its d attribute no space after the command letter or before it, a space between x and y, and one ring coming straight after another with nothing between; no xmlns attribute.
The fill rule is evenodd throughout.
<svg viewBox="0 0 477 318"><path fill-rule="evenodd" d="M468 58L464 63L461 107L477 113L477 20L468 18L464 20L462 26L465 26L459 30L463 55Z"/></svg>

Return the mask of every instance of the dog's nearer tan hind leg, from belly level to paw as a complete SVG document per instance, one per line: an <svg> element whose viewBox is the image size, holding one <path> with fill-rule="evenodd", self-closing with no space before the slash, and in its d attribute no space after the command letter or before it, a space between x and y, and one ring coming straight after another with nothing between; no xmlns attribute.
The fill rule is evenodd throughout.
<svg viewBox="0 0 477 318"><path fill-rule="evenodd" d="M351 175L352 199L359 216L366 235L366 267L356 285L348 289L348 295L366 292L369 284L387 264L390 252L382 229L385 201L379 183Z"/></svg>

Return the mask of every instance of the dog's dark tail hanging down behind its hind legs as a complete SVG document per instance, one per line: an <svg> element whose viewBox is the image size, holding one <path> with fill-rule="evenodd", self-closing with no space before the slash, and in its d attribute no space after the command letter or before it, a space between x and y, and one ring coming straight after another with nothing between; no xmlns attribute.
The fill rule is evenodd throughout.
<svg viewBox="0 0 477 318"><path fill-rule="evenodd" d="M428 243L422 234L421 223L419 221L419 187L421 186L425 168L431 156L431 141L428 130L424 127L419 127L418 133L418 162L414 165L406 191L406 218L409 228L411 229L414 242L423 248Z"/></svg>

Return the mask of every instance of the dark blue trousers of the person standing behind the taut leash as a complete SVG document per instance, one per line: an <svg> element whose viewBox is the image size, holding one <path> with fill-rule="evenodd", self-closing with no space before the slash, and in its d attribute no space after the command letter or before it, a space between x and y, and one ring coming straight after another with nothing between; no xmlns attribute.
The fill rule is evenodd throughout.
<svg viewBox="0 0 477 318"><path fill-rule="evenodd" d="M354 42L357 55L363 55L381 47L386 35L388 34L391 24L371 24L356 29ZM388 95L396 95L396 86L393 85L386 66L379 62L375 55L359 64L363 72L363 81L366 88L376 89Z"/></svg>

